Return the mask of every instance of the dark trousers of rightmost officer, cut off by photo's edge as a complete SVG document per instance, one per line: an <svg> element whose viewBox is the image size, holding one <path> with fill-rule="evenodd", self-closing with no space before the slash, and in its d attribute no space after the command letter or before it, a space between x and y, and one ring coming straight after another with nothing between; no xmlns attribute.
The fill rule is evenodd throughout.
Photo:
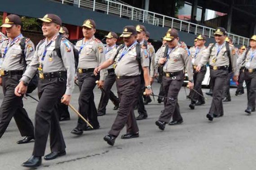
<svg viewBox="0 0 256 170"><path fill-rule="evenodd" d="M255 110L255 95L256 95L256 72L244 72L245 83L247 87L247 108Z"/></svg>

